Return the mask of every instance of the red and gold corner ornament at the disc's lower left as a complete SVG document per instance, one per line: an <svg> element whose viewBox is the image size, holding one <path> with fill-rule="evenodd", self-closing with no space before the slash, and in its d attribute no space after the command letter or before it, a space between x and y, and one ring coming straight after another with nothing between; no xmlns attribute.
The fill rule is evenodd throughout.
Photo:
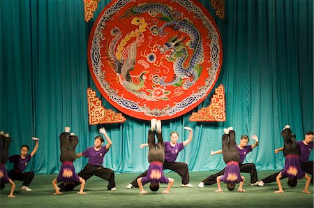
<svg viewBox="0 0 314 208"><path fill-rule="evenodd" d="M126 118L121 113L111 109L105 109L102 102L96 96L96 91L87 89L87 101L89 105L89 125L123 123Z"/></svg>

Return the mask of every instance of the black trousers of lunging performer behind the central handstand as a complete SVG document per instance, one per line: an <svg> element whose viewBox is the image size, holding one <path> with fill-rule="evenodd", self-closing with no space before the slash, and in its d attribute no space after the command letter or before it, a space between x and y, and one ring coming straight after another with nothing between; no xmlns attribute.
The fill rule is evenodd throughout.
<svg viewBox="0 0 314 208"><path fill-rule="evenodd" d="M169 169L172 170L174 172L177 172L177 174L179 174L182 178L182 184L188 184L190 182L190 174L188 172L188 164L186 163L179 163L179 162L167 162L165 161L165 163L163 163L163 169ZM137 179L141 178L141 177L145 177L147 175L147 171L143 172L142 174L140 174L139 176L136 177L136 179L132 182L130 182L130 184L132 184L132 186L134 187L138 187L137 185Z"/></svg>

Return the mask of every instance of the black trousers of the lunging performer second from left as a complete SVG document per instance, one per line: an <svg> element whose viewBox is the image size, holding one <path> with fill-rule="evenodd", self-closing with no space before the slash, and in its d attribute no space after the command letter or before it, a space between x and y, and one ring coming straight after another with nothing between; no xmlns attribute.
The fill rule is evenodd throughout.
<svg viewBox="0 0 314 208"><path fill-rule="evenodd" d="M79 177L87 181L90 177L96 175L106 181L109 181L107 188L110 190L111 188L116 187L116 183L114 182L114 171L109 168L103 168L103 166L94 166L87 163L83 170L77 174ZM59 188L62 191L72 191L76 186L80 185L80 183L75 184L65 184L64 182L59 184Z"/></svg>

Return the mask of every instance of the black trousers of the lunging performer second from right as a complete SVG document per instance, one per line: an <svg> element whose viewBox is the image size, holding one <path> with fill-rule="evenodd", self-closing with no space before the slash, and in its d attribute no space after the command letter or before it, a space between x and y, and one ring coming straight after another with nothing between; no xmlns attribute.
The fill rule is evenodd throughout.
<svg viewBox="0 0 314 208"><path fill-rule="evenodd" d="M255 168L255 165L253 163L245 163L241 164L239 163L240 172L246 172L251 174L251 184L254 184L257 182L257 170ZM212 174L206 179L204 179L202 182L204 185L213 185L216 184L216 178L220 175L223 175L225 172L225 168L223 170L220 170L220 172L217 172L216 174Z"/></svg>

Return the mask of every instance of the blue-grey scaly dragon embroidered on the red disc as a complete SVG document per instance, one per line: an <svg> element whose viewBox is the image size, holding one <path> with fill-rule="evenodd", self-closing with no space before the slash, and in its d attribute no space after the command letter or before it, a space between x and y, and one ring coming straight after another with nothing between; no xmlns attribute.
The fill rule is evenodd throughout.
<svg viewBox="0 0 314 208"><path fill-rule="evenodd" d="M154 26L158 36L165 36L165 29L167 27L171 27L175 31L181 31L189 36L190 40L188 41L188 47L190 50L193 50L189 61L188 50L186 50L186 47L183 47L183 44L180 44L183 40L176 43L178 37L159 47L160 53L170 51L168 57L174 61L174 77L172 78L172 81L165 82L167 77L160 77L159 84L172 85L181 82L183 79L187 79L183 84L183 87L184 89L191 87L198 79L197 68L199 68L200 64L204 61L204 51L200 32L187 20L177 19L175 17L177 16L177 13L172 15L170 8L167 8L167 6L160 3L142 3L127 10L125 15L136 15L138 13L149 13L151 16L156 16L158 13L162 15L160 20L164 20L165 23L161 27L158 27L157 25ZM188 61L187 64L186 61Z"/></svg>

